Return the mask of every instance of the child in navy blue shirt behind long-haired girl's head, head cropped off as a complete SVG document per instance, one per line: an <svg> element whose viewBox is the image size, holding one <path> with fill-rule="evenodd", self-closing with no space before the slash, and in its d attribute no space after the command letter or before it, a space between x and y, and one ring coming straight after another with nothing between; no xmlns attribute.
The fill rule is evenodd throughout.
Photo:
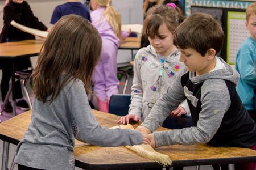
<svg viewBox="0 0 256 170"><path fill-rule="evenodd" d="M55 24L61 18L61 16L69 14L83 16L90 22L90 11L80 2L80 0L67 0L66 3L55 7L50 23Z"/></svg>

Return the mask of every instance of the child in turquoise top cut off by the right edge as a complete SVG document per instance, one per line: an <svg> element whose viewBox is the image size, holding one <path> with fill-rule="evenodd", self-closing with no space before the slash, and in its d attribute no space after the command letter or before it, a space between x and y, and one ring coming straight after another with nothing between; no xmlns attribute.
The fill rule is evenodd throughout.
<svg viewBox="0 0 256 170"><path fill-rule="evenodd" d="M236 56L236 70L240 74L236 89L243 105L256 122L256 2L246 8L246 28L250 36L242 42Z"/></svg>

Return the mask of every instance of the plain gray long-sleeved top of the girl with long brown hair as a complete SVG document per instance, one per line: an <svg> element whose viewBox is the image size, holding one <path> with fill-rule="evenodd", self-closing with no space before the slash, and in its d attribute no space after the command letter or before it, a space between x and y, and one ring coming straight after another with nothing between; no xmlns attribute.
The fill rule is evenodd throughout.
<svg viewBox="0 0 256 170"><path fill-rule="evenodd" d="M84 84L75 80L52 103L34 99L31 124L17 147L15 163L38 169L74 169L75 138L97 146L142 143L138 131L98 125Z"/></svg>

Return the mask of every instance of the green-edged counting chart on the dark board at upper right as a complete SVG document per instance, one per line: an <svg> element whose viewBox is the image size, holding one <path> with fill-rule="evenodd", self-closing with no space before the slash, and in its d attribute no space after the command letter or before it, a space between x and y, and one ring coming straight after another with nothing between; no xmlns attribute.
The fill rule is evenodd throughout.
<svg viewBox="0 0 256 170"><path fill-rule="evenodd" d="M234 65L240 44L250 35L245 22L245 12L228 11L226 58L229 64Z"/></svg>

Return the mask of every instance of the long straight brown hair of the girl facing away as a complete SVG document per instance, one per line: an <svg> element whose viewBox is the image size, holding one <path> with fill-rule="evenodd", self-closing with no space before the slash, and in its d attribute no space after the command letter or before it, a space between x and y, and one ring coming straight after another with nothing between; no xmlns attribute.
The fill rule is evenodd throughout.
<svg viewBox="0 0 256 170"><path fill-rule="evenodd" d="M75 79L84 82L86 92L90 92L101 46L100 34L88 20L63 16L47 36L32 74L35 97L43 103L53 101Z"/></svg>

